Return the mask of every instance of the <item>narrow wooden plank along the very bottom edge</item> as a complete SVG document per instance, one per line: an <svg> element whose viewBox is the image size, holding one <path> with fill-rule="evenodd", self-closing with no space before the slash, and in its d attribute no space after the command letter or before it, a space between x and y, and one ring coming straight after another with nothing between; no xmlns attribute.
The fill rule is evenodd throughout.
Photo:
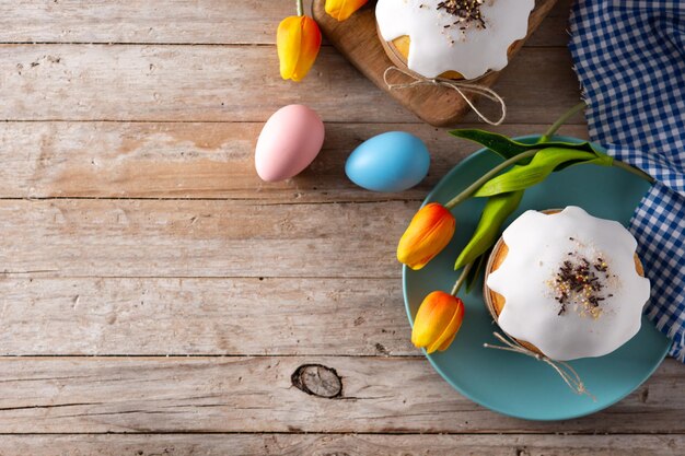
<svg viewBox="0 0 685 456"><path fill-rule="evenodd" d="M3 435L11 455L398 455L676 456L685 436L655 435L383 435L383 434L126 434Z"/></svg>

